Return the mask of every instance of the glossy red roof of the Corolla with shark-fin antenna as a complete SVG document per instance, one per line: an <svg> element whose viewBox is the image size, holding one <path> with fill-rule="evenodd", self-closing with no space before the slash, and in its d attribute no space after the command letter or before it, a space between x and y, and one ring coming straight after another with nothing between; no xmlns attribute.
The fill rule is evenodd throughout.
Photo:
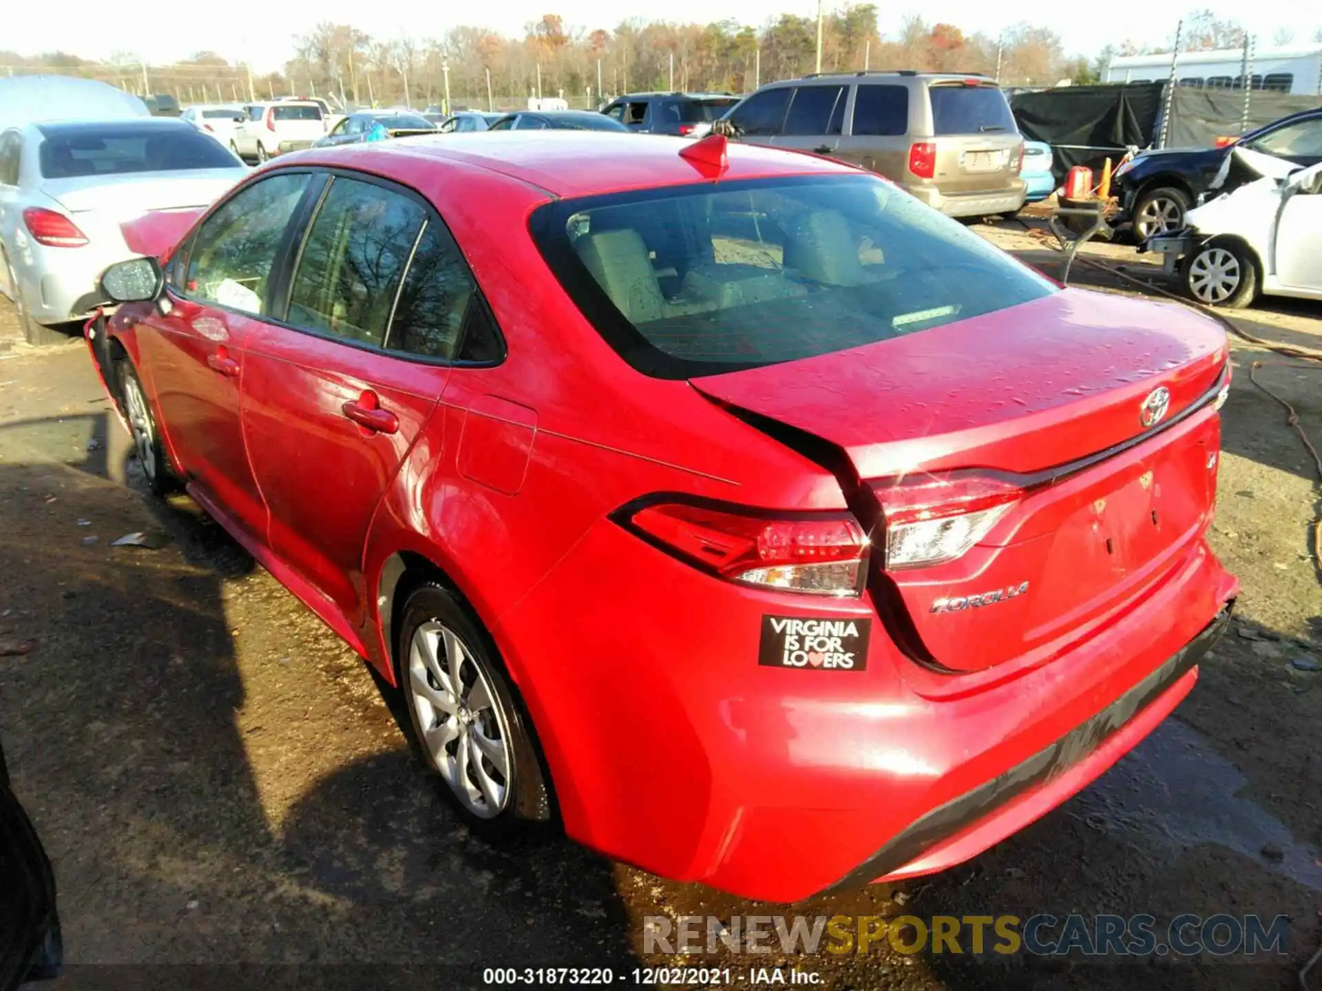
<svg viewBox="0 0 1322 991"><path fill-rule="evenodd" d="M526 182L551 196L580 197L710 181L709 173L680 157L681 151L694 144L686 137L613 131L477 131L382 141L370 149L315 148L282 156L282 161L330 168L352 164L406 184L410 177L423 181L426 170L436 163L453 161ZM720 174L722 182L859 174L858 169L830 159L734 141L727 145L727 159L730 166Z"/></svg>

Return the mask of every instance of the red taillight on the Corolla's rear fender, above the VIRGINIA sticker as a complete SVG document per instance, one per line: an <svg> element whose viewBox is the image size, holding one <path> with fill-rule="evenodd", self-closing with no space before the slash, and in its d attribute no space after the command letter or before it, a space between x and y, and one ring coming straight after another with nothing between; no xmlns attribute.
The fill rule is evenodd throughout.
<svg viewBox="0 0 1322 991"><path fill-rule="evenodd" d="M785 514L658 502L627 510L619 522L674 556L746 585L857 596L867 573L869 540L853 517Z"/></svg>

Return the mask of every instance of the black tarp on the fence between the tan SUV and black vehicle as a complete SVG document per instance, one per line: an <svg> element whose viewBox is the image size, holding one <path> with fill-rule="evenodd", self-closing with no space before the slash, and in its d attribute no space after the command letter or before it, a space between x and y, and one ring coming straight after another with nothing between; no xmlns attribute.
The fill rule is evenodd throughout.
<svg viewBox="0 0 1322 991"><path fill-rule="evenodd" d="M1129 145L1151 144L1165 89L1165 83L1060 86L1014 92L1010 108L1026 137L1051 145L1054 170L1064 178L1071 165L1097 172L1108 156L1116 163Z"/></svg>

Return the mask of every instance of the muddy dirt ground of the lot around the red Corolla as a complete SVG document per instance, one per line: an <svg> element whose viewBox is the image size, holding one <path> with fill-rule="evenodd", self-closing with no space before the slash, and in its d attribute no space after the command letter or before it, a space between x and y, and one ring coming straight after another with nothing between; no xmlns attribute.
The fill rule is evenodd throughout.
<svg viewBox="0 0 1322 991"><path fill-rule="evenodd" d="M1047 271L1059 262L1022 227L980 230ZM1093 254L1140 264L1124 248ZM1244 325L1322 348L1317 305L1269 303ZM15 333L0 301L0 336ZM1244 592L1192 696L1096 785L976 862L787 909L661 881L554 835L505 848L469 835L358 658L186 499L112 481L127 445L86 353L0 350L0 642L33 645L0 657L0 732L61 883L74 966L59 983L255 983L213 965L344 987L476 986L484 966L514 963L627 971L670 962L641 955L652 914L1256 912L1289 916L1288 957L874 947L689 962L797 967L861 990L1294 987L1322 941L1322 673L1300 670L1322 663L1317 493L1285 411L1248 369L1264 361L1264 385L1319 443L1322 374L1239 342L1233 358L1212 543ZM137 530L171 542L110 547Z"/></svg>

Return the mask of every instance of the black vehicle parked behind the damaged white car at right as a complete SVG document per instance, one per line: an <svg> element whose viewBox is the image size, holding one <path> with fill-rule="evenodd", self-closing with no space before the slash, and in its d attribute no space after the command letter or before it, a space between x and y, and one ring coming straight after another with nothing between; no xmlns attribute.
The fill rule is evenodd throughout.
<svg viewBox="0 0 1322 991"><path fill-rule="evenodd" d="M1315 165L1322 161L1322 108L1273 120L1249 131L1235 144L1297 165ZM1112 186L1120 197L1117 226L1133 225L1138 240L1183 227L1185 211L1196 206L1208 192L1208 184L1233 147L1158 148L1121 165ZM1253 173L1232 163L1222 189L1235 189L1252 178L1256 178Z"/></svg>

